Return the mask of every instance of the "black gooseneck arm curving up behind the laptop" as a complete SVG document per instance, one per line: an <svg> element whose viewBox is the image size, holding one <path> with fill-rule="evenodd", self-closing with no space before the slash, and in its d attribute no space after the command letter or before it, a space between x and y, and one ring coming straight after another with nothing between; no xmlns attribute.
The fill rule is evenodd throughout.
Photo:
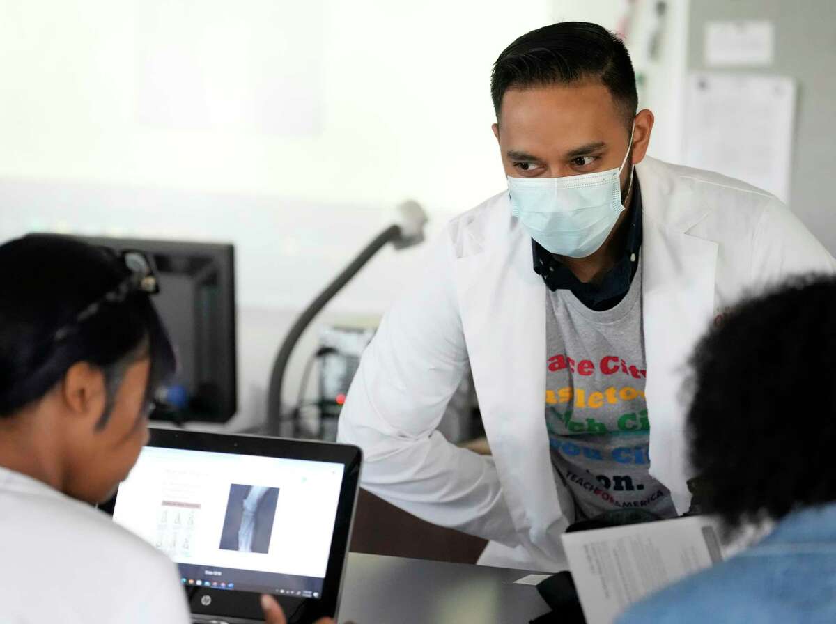
<svg viewBox="0 0 836 624"><path fill-rule="evenodd" d="M273 362L273 371L270 373L270 384L268 387L267 398L267 433L278 435L281 430L283 421L282 413L282 385L284 383L284 371L288 368L288 361L290 354L293 353L293 348L296 346L299 337L308 327L311 321L314 320L317 314L325 307L333 297L342 288L349 283L352 277L363 268L366 262L370 261L380 249L391 241L397 241L401 237L400 226L389 226L384 231L380 232L375 238L360 251L358 256L346 266L334 280L325 287L323 292L314 299L313 302L305 309L304 312L296 319L293 326L288 332L288 336L284 338L282 347L278 350L276 359Z"/></svg>

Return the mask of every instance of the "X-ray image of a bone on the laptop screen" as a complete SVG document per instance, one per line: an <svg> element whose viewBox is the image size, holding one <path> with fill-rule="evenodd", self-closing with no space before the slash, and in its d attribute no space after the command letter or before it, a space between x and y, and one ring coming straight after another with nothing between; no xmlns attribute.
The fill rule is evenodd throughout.
<svg viewBox="0 0 836 624"><path fill-rule="evenodd" d="M230 485L221 534L222 550L266 555L270 550L277 503L278 488Z"/></svg>

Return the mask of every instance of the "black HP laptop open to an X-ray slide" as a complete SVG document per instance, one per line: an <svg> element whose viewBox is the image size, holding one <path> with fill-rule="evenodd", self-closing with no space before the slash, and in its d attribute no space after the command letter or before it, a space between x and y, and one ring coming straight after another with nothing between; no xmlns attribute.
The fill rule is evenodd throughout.
<svg viewBox="0 0 836 624"><path fill-rule="evenodd" d="M354 446L151 429L102 509L179 567L196 622L336 618L359 484Z"/></svg>

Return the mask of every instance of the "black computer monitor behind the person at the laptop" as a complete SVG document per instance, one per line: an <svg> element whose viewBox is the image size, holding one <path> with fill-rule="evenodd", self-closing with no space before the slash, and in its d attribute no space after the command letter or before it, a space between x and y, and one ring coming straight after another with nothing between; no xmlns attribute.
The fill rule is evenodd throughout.
<svg viewBox="0 0 836 624"><path fill-rule="evenodd" d="M116 251L144 251L154 261L154 304L177 351L166 390L172 411L152 418L225 423L237 411L235 250L232 245L79 236Z"/></svg>

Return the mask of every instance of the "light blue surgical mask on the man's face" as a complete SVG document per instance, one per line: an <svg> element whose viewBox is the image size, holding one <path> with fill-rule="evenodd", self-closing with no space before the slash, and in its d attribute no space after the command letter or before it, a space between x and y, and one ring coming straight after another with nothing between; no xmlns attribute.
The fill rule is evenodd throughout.
<svg viewBox="0 0 836 624"><path fill-rule="evenodd" d="M529 236L550 253L572 258L591 256L607 240L624 211L620 177L632 146L631 131L627 154L618 169L562 178L514 178L509 175L511 214L517 217ZM631 187L632 165L630 167ZM627 195L630 196L630 188Z"/></svg>

